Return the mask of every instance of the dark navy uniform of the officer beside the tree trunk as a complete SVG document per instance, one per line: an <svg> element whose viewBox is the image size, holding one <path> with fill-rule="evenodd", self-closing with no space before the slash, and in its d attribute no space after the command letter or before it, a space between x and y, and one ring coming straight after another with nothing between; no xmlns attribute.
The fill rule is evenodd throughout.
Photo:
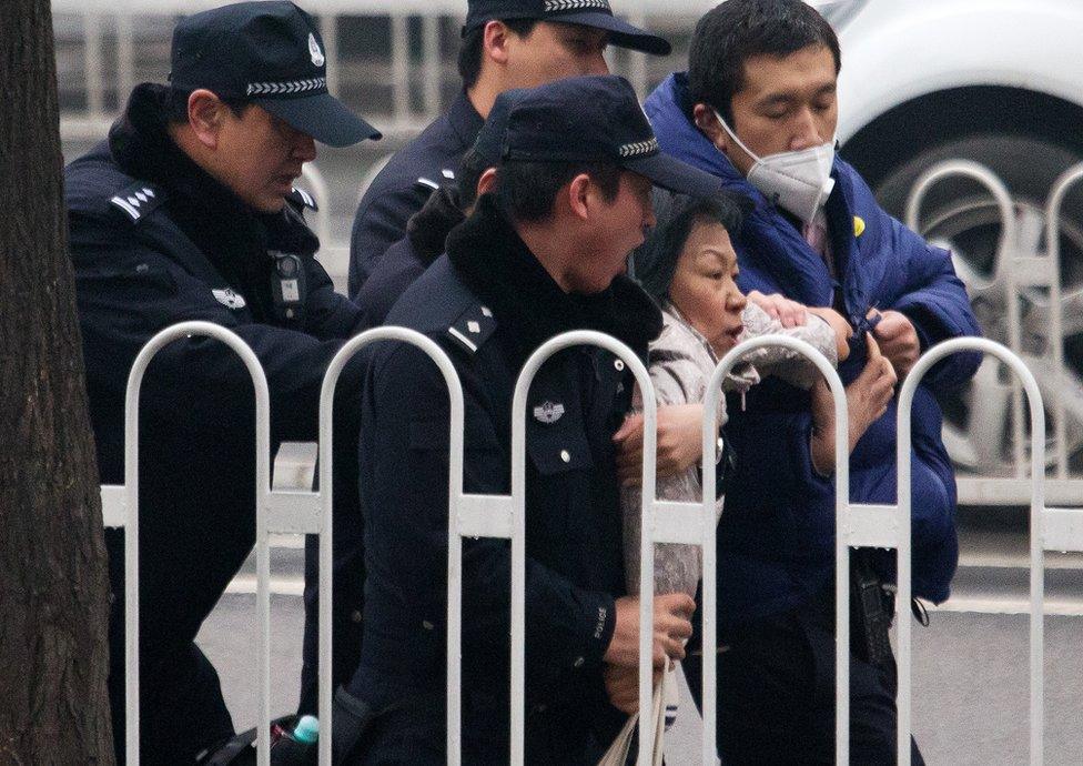
<svg viewBox="0 0 1083 766"><path fill-rule="evenodd" d="M203 320L239 334L266 373L275 446L315 441L324 370L342 339L362 327L361 312L335 294L313 256L318 240L301 215L304 195L277 214L252 211L169 138L165 94L161 85L136 88L109 140L64 173L103 484L124 481L128 374L159 331ZM283 258L298 270L296 284L279 279ZM340 390L355 391L358 379L348 367ZM336 447L355 454L356 406L340 409ZM252 384L237 356L206 339L163 349L140 402L142 735L155 760L190 762L233 730L214 669L193 639L253 545L254 452ZM336 477L336 500L348 506L355 497L356 475ZM121 532L108 532L107 542L110 692L122 747Z"/></svg>

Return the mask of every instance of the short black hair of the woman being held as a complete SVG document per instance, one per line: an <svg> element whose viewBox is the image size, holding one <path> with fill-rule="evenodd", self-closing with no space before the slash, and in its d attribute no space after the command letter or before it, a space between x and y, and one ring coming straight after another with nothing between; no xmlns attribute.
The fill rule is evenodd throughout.
<svg viewBox="0 0 1083 766"><path fill-rule="evenodd" d="M732 192L708 198L655 192L658 225L632 255L639 284L659 305L665 304L677 261L696 225L720 223L726 231L737 233L751 208L750 200Z"/></svg>

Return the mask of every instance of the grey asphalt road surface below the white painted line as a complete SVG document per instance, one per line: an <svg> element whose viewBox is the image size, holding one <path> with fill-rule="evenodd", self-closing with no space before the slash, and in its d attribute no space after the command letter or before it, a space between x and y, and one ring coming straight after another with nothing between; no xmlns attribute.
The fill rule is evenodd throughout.
<svg viewBox="0 0 1083 766"><path fill-rule="evenodd" d="M272 709L292 712L301 674L302 604L274 596ZM1028 763L1028 619L935 612L913 632L914 736L929 764ZM1083 764L1083 617L1045 621L1046 764ZM255 599L226 595L200 645L222 676L237 727L256 716ZM687 693L684 699L688 701ZM668 764L698 764L699 718L682 705Z"/></svg>

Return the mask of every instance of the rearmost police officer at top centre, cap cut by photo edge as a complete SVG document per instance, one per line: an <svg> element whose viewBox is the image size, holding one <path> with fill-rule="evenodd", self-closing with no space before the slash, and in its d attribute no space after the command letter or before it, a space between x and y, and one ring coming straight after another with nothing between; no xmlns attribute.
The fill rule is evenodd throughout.
<svg viewBox="0 0 1083 766"><path fill-rule="evenodd" d="M558 78L608 72L607 44L668 56L664 39L613 16L609 0L469 0L458 70L463 92L447 114L395 154L365 192L350 243L350 296L406 222L454 180L496 97Z"/></svg>

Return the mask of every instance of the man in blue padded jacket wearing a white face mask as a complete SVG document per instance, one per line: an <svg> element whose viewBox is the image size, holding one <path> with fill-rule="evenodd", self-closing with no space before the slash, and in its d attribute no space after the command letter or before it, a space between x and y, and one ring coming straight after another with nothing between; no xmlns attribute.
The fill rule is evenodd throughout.
<svg viewBox="0 0 1083 766"><path fill-rule="evenodd" d="M728 0L699 21L688 73L664 82L646 111L667 151L753 201L743 230L731 234L741 288L834 308L858 334L873 333L901 379L928 346L980 330L949 253L888 215L836 155L840 61L834 32L800 0ZM851 343L843 382L864 364L864 346ZM914 400L913 588L934 602L948 597L958 543L933 394L976 365L974 354L945 360ZM807 396L768 381L746 411L731 412L738 461L718 532L722 755L830 763L834 490L809 455ZM895 419L892 402L852 452L854 502L895 502ZM866 578L892 576L889 555L858 552L852 562ZM877 632L862 635L874 619L852 605L851 613L851 757L893 762L894 659L874 648ZM689 666L689 678L697 669Z"/></svg>

